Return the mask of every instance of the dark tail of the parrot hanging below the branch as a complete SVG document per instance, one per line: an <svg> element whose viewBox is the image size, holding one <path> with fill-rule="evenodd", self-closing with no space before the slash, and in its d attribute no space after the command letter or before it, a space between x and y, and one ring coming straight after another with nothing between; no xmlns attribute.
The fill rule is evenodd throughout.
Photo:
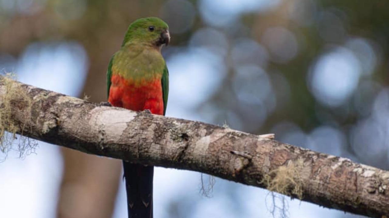
<svg viewBox="0 0 389 218"><path fill-rule="evenodd" d="M152 178L154 166L123 161L126 179L128 218L152 218Z"/></svg>

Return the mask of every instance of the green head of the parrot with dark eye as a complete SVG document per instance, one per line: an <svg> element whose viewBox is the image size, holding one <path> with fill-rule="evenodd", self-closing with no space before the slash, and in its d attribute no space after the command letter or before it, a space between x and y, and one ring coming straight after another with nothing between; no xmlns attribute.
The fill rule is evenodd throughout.
<svg viewBox="0 0 389 218"><path fill-rule="evenodd" d="M168 42L162 42L161 36L163 33L167 33L168 39L170 39L168 32L168 24L158 17L146 17L137 19L128 26L126 35L122 43L122 47L129 43L139 43L147 45L158 45ZM168 40L167 39L167 40ZM165 39L166 40L166 39Z"/></svg>

